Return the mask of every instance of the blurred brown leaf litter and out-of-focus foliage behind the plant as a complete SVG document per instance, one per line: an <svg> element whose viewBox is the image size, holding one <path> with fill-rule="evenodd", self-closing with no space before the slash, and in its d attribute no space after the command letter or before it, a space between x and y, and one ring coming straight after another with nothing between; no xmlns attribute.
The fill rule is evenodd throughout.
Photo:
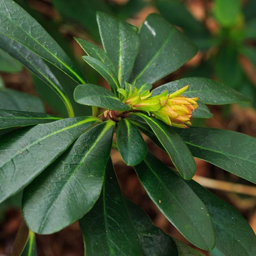
<svg viewBox="0 0 256 256"><path fill-rule="evenodd" d="M95 12L101 10L137 27L148 14L160 13L198 46L198 54L183 67L158 81L154 87L188 76L215 79L251 99L251 103L209 106L212 119L192 120L195 126L239 131L256 137L256 0L15 0L30 13L66 53L73 58L92 84L107 88L106 81L89 67L84 51L73 37L100 45ZM171 61L171 60L170 60ZM76 83L50 66L72 100ZM15 90L15 91L13 91ZM26 105L19 105L24 98ZM40 99L39 99L39 98ZM0 49L0 108L67 116L62 101L43 82ZM76 115L91 109L74 103ZM165 164L169 157L144 136L150 150ZM156 226L187 242L150 201L133 168L126 166L116 150L112 159L123 194L140 205ZM194 179L236 208L256 232L256 186L207 162L195 159ZM10 255L22 220L22 193L0 204L0 256ZM78 223L52 235L37 235L38 255L84 255ZM218 251L205 255L219 256Z"/></svg>

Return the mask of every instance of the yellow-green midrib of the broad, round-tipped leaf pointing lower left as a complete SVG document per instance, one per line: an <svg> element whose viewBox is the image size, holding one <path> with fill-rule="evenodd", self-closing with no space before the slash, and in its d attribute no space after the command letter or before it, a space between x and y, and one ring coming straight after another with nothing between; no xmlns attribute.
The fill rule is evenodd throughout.
<svg viewBox="0 0 256 256"><path fill-rule="evenodd" d="M104 134L113 126L113 124L109 124L106 123L106 126L104 127L104 129L101 131L100 135L97 137L97 139L95 140L95 142L91 145L90 149L87 151L87 153L85 154L85 156L81 159L80 163L77 165L76 169L74 169L74 171L72 172L72 175L66 180L65 184L63 185L63 187L61 188L61 190L59 190L59 193L57 195L57 197L54 198L54 200L51 203L51 207L48 208L47 213L45 214L45 217L39 227L39 232L41 232L43 230L43 225L45 223L45 221L47 220L47 217L51 211L51 208L54 206L56 200L58 199L59 195L61 194L62 190L64 189L64 187L69 184L70 180L76 175L77 171L79 170L80 166L84 163L85 159L87 158L88 154L90 154L90 152L95 148L95 146L98 144L98 142L100 141L100 139L102 138L102 136L104 136Z"/></svg>

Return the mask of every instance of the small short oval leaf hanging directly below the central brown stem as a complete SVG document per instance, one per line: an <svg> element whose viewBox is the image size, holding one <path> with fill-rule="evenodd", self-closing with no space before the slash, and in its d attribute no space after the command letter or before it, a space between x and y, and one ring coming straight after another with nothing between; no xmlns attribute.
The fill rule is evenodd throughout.
<svg viewBox="0 0 256 256"><path fill-rule="evenodd" d="M128 119L121 119L116 130L116 144L123 161L134 166L147 155L147 146L140 131Z"/></svg>

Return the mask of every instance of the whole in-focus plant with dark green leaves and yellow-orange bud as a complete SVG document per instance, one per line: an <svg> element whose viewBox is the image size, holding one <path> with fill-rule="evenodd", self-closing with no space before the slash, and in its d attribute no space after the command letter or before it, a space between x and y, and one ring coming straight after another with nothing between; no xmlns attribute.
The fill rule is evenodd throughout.
<svg viewBox="0 0 256 256"><path fill-rule="evenodd" d="M86 255L201 255L155 227L123 197L109 156L114 147L134 166L159 210L194 246L216 247L225 255L255 255L255 235L241 214L191 180L194 156L256 182L255 138L191 126L191 117L212 117L204 104L247 99L196 77L151 91L153 83L191 59L197 48L157 14L149 15L139 32L104 13L97 20L104 50L76 40L88 55L83 59L111 91L88 84L19 5L0 2L1 48L45 81L70 116L0 111L1 129L22 127L1 137L0 201L24 189L22 214L29 232L23 254L35 253L33 232L51 234L79 220ZM77 81L74 99L92 106L92 116L74 117L65 91L40 57ZM169 154L177 172L148 151L140 131Z"/></svg>

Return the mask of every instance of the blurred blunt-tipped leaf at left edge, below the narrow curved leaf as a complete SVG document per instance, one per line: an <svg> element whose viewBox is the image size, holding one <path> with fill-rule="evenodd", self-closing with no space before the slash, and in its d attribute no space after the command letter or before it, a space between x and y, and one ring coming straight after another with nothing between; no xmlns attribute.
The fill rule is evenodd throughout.
<svg viewBox="0 0 256 256"><path fill-rule="evenodd" d="M42 100L24 92L0 88L0 99L0 109L44 112Z"/></svg>

